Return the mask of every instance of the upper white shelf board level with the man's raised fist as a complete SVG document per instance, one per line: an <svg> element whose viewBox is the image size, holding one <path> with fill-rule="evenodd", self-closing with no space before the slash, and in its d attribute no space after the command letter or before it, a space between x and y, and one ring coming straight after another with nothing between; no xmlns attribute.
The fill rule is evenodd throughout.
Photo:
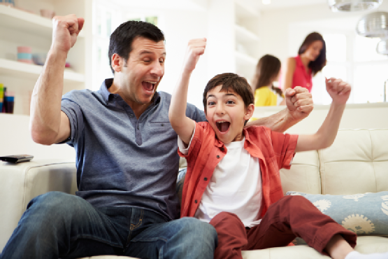
<svg viewBox="0 0 388 259"><path fill-rule="evenodd" d="M0 5L0 25L45 38L52 36L50 19L9 6ZM84 37L82 31L79 36Z"/></svg>

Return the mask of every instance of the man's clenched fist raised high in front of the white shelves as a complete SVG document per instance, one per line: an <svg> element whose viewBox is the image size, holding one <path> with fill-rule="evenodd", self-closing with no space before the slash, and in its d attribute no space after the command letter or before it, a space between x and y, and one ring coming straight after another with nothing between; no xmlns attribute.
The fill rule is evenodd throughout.
<svg viewBox="0 0 388 259"><path fill-rule="evenodd" d="M77 36L85 20L76 15L55 16L52 18L51 49L60 52L69 52L76 43Z"/></svg>

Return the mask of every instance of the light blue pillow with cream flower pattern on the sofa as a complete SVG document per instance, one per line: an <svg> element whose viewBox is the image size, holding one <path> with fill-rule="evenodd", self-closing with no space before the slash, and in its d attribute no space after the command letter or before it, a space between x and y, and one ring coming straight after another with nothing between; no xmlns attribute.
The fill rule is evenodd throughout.
<svg viewBox="0 0 388 259"><path fill-rule="evenodd" d="M286 195L306 197L323 214L357 235L388 236L388 192L357 195L287 192Z"/></svg>

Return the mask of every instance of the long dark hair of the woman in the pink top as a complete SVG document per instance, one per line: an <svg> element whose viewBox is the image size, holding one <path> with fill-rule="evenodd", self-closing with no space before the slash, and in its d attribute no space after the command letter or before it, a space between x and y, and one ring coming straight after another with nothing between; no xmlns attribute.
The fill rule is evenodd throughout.
<svg viewBox="0 0 388 259"><path fill-rule="evenodd" d="M303 54L314 41L322 41L322 50L319 53L317 59L308 63L308 67L311 69L312 76L315 76L315 74L321 71L326 65L326 43L324 42L322 35L317 32L308 34L298 51L299 55Z"/></svg>

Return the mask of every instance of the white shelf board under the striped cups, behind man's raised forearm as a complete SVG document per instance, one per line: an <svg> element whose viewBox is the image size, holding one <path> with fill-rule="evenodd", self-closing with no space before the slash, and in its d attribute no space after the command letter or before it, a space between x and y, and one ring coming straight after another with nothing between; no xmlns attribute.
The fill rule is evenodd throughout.
<svg viewBox="0 0 388 259"><path fill-rule="evenodd" d="M0 59L0 75L36 80L41 74L42 68L43 66L38 66L36 64ZM70 69L65 69L64 80L69 83L83 83L85 82L85 76L82 73L76 73Z"/></svg>

